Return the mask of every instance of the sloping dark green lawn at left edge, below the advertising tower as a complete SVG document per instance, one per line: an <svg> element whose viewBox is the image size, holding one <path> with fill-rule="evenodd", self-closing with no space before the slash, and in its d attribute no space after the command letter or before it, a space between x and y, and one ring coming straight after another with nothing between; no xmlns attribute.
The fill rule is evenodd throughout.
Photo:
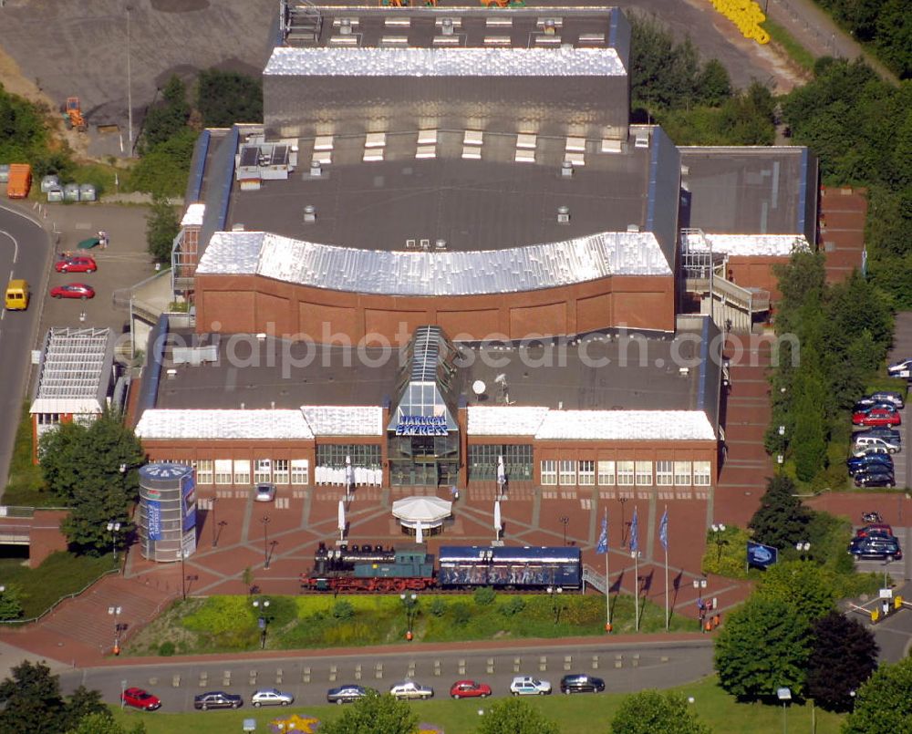
<svg viewBox="0 0 912 734"><path fill-rule="evenodd" d="M111 556L100 558L72 553L51 553L37 568L22 561L0 560L0 578L7 587L16 588L25 619L45 612L60 597L73 594L114 568Z"/></svg>

